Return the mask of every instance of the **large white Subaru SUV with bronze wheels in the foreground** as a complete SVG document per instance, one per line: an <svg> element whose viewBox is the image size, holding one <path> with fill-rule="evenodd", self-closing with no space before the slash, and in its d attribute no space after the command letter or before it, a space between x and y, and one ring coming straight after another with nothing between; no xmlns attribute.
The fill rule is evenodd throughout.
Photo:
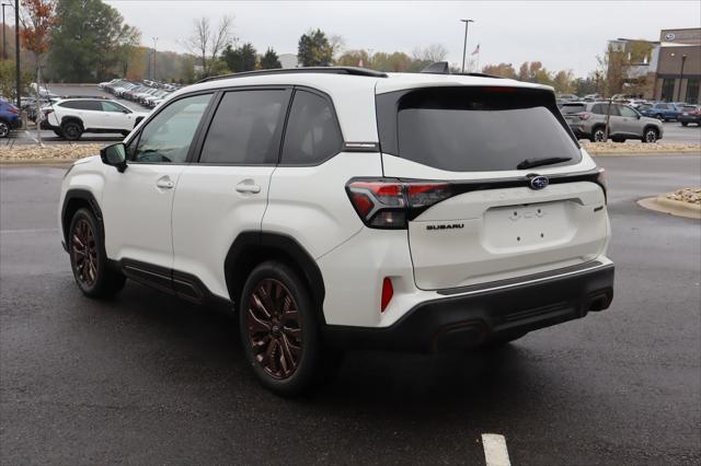
<svg viewBox="0 0 701 466"><path fill-rule="evenodd" d="M239 313L281 395L340 350L503 343L609 306L602 171L551 88L357 68L218 77L73 164L76 281Z"/></svg>

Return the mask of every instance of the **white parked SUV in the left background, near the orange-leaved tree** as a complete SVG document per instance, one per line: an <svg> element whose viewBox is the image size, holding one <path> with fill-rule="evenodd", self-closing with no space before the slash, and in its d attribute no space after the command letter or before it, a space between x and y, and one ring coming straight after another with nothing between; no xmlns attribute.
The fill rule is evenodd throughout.
<svg viewBox="0 0 701 466"><path fill-rule="evenodd" d="M135 112L118 102L104 98L64 98L42 108L42 129L50 129L69 141L83 132L128 135L147 112Z"/></svg>

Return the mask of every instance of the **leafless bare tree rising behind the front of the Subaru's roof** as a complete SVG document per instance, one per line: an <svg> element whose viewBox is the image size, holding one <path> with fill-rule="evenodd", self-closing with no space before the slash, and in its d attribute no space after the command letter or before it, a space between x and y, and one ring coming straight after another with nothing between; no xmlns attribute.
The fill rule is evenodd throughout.
<svg viewBox="0 0 701 466"><path fill-rule="evenodd" d="M194 21L194 33L184 45L202 60L203 77L211 73L221 50L231 42L232 30L233 16L221 16L218 27L214 27L206 16Z"/></svg>

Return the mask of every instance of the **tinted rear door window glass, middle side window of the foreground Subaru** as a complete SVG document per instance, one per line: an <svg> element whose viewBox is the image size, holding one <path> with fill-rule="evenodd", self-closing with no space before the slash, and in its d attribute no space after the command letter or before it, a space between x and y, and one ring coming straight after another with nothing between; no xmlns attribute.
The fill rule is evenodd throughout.
<svg viewBox="0 0 701 466"><path fill-rule="evenodd" d="M227 92L211 119L200 163L277 163L288 90Z"/></svg>

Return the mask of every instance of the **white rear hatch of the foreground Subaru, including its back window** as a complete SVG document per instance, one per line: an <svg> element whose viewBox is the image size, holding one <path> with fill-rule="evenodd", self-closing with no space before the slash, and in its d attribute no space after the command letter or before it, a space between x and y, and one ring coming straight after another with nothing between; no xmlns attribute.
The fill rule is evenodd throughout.
<svg viewBox="0 0 701 466"><path fill-rule="evenodd" d="M602 253L599 171L583 160L552 92L423 88L378 93L377 103L384 179L404 184L414 206L406 228L418 288L538 273Z"/></svg>

